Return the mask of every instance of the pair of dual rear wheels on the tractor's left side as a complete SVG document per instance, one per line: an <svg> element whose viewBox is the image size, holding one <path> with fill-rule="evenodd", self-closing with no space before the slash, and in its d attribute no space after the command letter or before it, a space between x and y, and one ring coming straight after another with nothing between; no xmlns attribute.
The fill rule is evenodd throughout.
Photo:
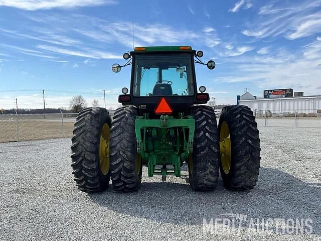
<svg viewBox="0 0 321 241"><path fill-rule="evenodd" d="M142 160L136 149L135 107L115 111L113 122L104 108L81 110L72 137L74 180L84 192L108 187L110 177L116 191L135 191L140 187Z"/></svg>

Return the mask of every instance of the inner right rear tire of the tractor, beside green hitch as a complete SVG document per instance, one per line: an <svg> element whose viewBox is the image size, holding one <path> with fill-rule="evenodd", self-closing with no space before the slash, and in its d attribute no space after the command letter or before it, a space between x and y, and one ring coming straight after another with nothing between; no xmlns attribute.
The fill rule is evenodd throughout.
<svg viewBox="0 0 321 241"><path fill-rule="evenodd" d="M195 119L193 154L189 156L189 182L196 191L211 191L217 186L220 151L218 130L213 108L193 106Z"/></svg>

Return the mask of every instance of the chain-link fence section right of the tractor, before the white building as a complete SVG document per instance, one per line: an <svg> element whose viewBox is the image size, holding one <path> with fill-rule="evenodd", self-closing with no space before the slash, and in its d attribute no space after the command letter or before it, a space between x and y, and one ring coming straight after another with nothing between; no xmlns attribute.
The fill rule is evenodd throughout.
<svg viewBox="0 0 321 241"><path fill-rule="evenodd" d="M253 110L259 127L321 128L321 110Z"/></svg>

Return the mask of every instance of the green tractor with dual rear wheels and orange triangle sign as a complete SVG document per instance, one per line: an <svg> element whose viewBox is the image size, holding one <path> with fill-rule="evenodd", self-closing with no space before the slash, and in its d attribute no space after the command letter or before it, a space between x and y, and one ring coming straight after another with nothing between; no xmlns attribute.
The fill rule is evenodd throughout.
<svg viewBox="0 0 321 241"><path fill-rule="evenodd" d="M260 139L253 112L242 105L222 110L217 125L206 88L199 92L195 63L215 68L190 46L136 47L119 72L131 65L130 91L122 89L111 119L105 108L79 112L72 137L72 168L81 191L98 192L111 179L116 191L139 188L142 166L148 177L181 176L188 165L193 190L215 189L219 170L225 187L248 190L260 168Z"/></svg>

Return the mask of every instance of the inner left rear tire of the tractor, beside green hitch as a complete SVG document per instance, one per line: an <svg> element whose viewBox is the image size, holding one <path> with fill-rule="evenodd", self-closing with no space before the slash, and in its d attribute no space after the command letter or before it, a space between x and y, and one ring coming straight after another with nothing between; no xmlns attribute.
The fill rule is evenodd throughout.
<svg viewBox="0 0 321 241"><path fill-rule="evenodd" d="M139 189L142 160L137 153L133 106L116 109L111 129L110 169L112 185L116 191L130 192Z"/></svg>

